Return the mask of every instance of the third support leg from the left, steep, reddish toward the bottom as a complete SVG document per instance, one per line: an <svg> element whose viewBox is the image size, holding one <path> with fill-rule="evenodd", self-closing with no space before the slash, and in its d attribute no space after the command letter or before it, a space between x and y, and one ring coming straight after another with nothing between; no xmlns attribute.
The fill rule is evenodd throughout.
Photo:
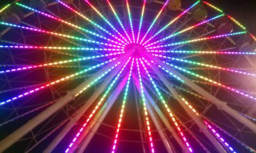
<svg viewBox="0 0 256 153"><path fill-rule="evenodd" d="M84 132L81 134L80 141L77 139L77 142L81 142L81 143L77 143L77 146L75 146L75 147L78 147L76 150L77 153L84 152L84 150L92 140L93 136L95 135L95 132L99 129L101 122L105 119L110 108L113 106L114 102L118 98L120 92L122 92L122 90L124 89L125 83L127 82L127 80L128 80L128 76L126 76L120 82L120 84L118 84L118 87L116 87L115 91L113 91L111 96L108 98L108 101L104 103L99 113L97 113L97 115L93 118L92 122L87 126L86 130L84 130Z"/></svg>

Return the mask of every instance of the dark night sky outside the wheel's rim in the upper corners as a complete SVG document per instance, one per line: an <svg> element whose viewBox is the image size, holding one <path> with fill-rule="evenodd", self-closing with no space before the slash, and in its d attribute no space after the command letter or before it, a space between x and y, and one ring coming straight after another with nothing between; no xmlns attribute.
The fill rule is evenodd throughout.
<svg viewBox="0 0 256 153"><path fill-rule="evenodd" d="M13 0L1 0L0 6ZM236 18L247 27L248 31L256 34L256 0L207 0L218 6L225 13Z"/></svg>

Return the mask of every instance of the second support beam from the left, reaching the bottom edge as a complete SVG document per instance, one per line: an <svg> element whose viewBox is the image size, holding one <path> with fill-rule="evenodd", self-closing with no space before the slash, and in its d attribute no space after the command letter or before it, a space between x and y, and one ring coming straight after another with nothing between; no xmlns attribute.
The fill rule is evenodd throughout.
<svg viewBox="0 0 256 153"><path fill-rule="evenodd" d="M44 153L52 152L52 150L58 145L58 143L63 140L64 136L67 135L68 131L74 126L74 124L79 120L83 114L88 110L88 108L93 104L95 99L99 97L99 95L104 91L109 82L115 77L118 71L122 68L123 64L120 64L116 67L113 72L104 80L103 84L97 89L97 91L93 92L92 96L84 102L84 105L77 110L76 115L72 117L68 124L61 130L61 132L52 140L52 142L48 145L48 147L44 150Z"/></svg>

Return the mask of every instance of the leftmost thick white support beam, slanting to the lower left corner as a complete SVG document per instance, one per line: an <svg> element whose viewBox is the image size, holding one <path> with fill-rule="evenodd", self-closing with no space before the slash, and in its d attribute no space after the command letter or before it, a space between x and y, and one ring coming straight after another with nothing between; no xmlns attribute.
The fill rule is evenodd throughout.
<svg viewBox="0 0 256 153"><path fill-rule="evenodd" d="M67 105L68 102L74 100L75 95L79 93L84 87L86 87L90 82L95 80L95 78L100 77L104 72L108 71L109 68L114 66L117 62L121 62L125 58L129 57L130 54L125 55L124 57L120 57L116 59L115 62L111 62L108 64L108 66L104 66L104 68L100 69L95 73L92 77L86 79L82 84L78 85L75 89L72 91L68 92L65 96L62 98L59 98L56 100L56 103L53 105L49 106L46 110L43 112L39 113L34 117L33 119L29 120L26 124L21 126L19 129L14 131L12 134L8 135L6 138L1 140L0 142L0 152L4 152L4 150L8 149L13 143L17 142L22 136L26 135L29 131L32 129L36 128L40 123L44 122L44 120L48 119L51 117L52 114L63 108L63 106Z"/></svg>

